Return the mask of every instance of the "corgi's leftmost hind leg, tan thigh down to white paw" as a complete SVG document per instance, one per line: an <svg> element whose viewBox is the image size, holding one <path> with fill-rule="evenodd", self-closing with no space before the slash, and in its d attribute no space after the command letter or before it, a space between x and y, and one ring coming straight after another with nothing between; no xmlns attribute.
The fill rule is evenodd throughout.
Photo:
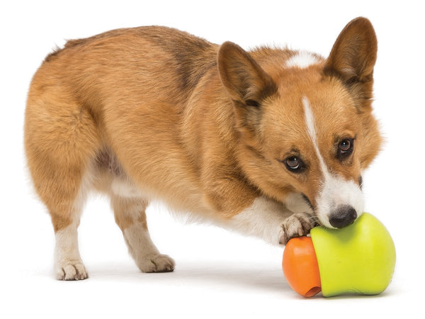
<svg viewBox="0 0 425 319"><path fill-rule="evenodd" d="M96 124L89 111L63 91L37 93L32 89L28 96L25 147L35 191L55 230L56 277L86 279L77 227L99 145Z"/></svg>

